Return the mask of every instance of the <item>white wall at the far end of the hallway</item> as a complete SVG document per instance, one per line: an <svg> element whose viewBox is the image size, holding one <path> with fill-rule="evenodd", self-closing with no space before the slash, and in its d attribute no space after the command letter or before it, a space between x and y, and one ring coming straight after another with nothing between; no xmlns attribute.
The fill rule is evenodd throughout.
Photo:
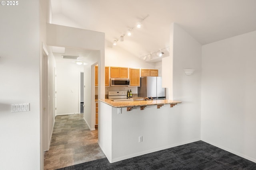
<svg viewBox="0 0 256 170"><path fill-rule="evenodd" d="M80 72L83 65L56 62L57 115L79 113Z"/></svg>

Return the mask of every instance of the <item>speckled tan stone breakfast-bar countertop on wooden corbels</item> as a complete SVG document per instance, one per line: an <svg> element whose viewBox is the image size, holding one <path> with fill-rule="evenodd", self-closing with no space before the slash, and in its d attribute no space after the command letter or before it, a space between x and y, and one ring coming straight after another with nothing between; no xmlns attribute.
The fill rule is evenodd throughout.
<svg viewBox="0 0 256 170"><path fill-rule="evenodd" d="M116 107L116 108L118 108L118 107L132 108L135 106L140 106L142 108L142 110L146 106L157 105L158 108L160 108L161 106L163 106L165 104L170 104L170 107L173 107L176 104L182 103L182 102L176 101L176 100L145 100L145 101L132 101L132 102L113 102L108 99L99 99L99 101L101 101L105 104L108 104L109 106Z"/></svg>

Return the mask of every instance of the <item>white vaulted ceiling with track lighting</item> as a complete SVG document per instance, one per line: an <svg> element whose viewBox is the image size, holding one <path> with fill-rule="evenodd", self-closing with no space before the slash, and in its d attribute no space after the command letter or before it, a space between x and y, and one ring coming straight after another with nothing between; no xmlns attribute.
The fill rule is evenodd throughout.
<svg viewBox="0 0 256 170"><path fill-rule="evenodd" d="M113 42L149 15L117 45L143 59L169 47L178 23L202 45L256 30L256 0L51 0L53 23L104 32ZM57 17L58 16L58 17ZM168 51L166 51L168 55ZM153 60L156 62L159 60Z"/></svg>

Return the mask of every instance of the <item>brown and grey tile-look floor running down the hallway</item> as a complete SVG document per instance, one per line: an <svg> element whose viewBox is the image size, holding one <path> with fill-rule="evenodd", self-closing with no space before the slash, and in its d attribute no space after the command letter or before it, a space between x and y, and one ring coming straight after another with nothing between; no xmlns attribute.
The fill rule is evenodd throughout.
<svg viewBox="0 0 256 170"><path fill-rule="evenodd" d="M98 145L98 130L90 131L83 114L56 116L44 170L55 170L106 156Z"/></svg>

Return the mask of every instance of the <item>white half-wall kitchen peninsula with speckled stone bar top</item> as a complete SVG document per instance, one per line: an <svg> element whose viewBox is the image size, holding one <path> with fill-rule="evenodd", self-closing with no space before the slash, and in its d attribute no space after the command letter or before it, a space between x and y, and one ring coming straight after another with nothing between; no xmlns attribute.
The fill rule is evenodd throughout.
<svg viewBox="0 0 256 170"><path fill-rule="evenodd" d="M178 146L175 100L99 100L98 144L110 163ZM102 120L102 121L101 121Z"/></svg>

